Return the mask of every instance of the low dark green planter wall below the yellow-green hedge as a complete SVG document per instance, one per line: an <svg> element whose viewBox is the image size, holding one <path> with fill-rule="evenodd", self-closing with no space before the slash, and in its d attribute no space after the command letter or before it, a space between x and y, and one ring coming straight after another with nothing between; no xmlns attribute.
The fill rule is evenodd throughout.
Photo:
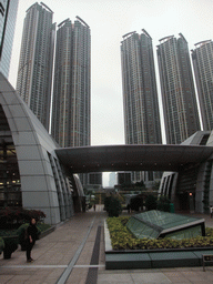
<svg viewBox="0 0 213 284"><path fill-rule="evenodd" d="M105 270L202 266L203 254L213 255L213 247L114 251L106 222L104 223L104 241Z"/></svg>

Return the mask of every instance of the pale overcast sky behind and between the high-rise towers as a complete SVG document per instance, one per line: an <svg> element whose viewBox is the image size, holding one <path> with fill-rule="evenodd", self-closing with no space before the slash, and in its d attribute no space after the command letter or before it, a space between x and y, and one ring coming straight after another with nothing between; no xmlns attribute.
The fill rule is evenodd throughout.
<svg viewBox="0 0 213 284"><path fill-rule="evenodd" d="M19 0L9 81L16 88L27 9L33 0ZM75 17L91 29L91 144L124 144L120 45L122 36L145 29L153 52L161 108L156 45L159 40L181 32L194 44L212 39L212 0L43 0L54 12L53 22ZM162 114L162 111L161 111ZM163 115L161 115L162 118ZM162 119L163 123L163 119ZM163 124L162 124L163 130ZM164 138L164 135L163 135Z"/></svg>

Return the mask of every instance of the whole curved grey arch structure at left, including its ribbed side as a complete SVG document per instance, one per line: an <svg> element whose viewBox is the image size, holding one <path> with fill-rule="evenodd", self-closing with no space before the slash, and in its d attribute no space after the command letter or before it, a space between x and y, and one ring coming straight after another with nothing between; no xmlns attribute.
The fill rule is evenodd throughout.
<svg viewBox="0 0 213 284"><path fill-rule="evenodd" d="M7 131L3 123L8 124ZM54 152L59 145L1 73L0 125L0 146L9 140L16 149L22 206L43 211L49 224L58 224L72 216L74 205L71 186L67 182L72 174L67 174L59 163ZM2 162L0 165L1 178L8 179L8 182L1 182L1 190L7 192L12 183L7 178L10 165L2 166ZM77 191L75 184L73 191ZM80 186L79 192L83 194Z"/></svg>

